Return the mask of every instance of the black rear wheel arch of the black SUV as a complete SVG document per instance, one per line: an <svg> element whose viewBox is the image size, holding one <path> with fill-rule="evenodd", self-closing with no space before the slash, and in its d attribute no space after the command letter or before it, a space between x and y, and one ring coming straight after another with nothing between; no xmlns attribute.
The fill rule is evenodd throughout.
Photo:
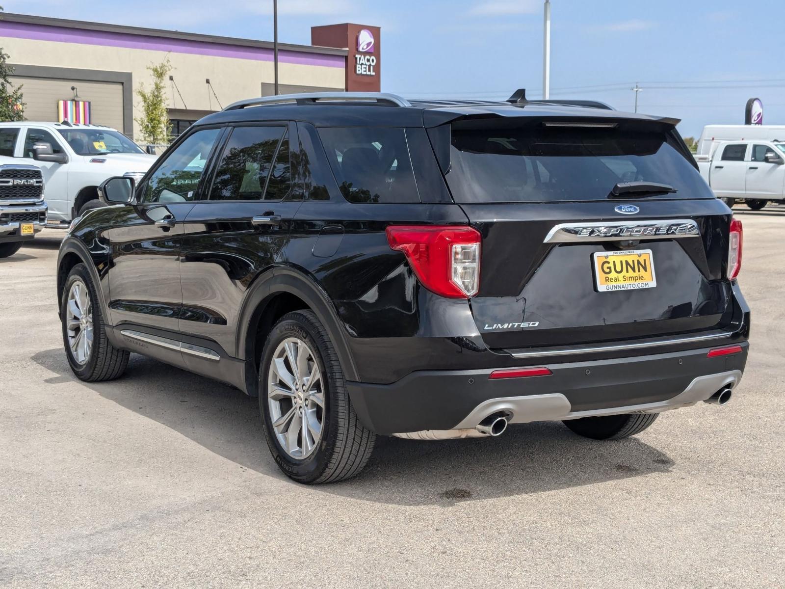
<svg viewBox="0 0 785 589"><path fill-rule="evenodd" d="M316 280L298 269L276 267L254 281L240 311L236 349L249 368L246 390L250 394L257 390L259 354L267 334L281 316L298 309L316 313L335 346L345 378L357 379L345 329L327 293ZM250 370L251 367L254 369Z"/></svg>

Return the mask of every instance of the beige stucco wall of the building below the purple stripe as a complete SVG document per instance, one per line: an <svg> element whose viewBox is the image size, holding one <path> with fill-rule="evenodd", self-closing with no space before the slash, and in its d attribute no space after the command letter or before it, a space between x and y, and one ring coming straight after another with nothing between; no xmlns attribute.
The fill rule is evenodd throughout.
<svg viewBox="0 0 785 589"><path fill-rule="evenodd" d="M189 110L219 110L215 97L205 79L210 79L218 100L226 106L243 98L261 95L261 82L273 81L272 61L257 61L228 57L194 55L191 53L166 53L148 49L128 49L82 45L80 43L36 41L24 38L0 37L0 46L9 54L9 63L130 72L133 90L141 83L151 85L146 66L158 64L169 57L173 65L171 74L180 89ZM322 86L342 90L344 69L315 65L279 63L279 82L298 86ZM79 84L75 84L79 86ZM70 87L70 86L69 86ZM166 99L169 108L183 108L183 102L172 92L166 81ZM81 87L79 94L85 100ZM173 96L174 94L174 96ZM68 94L64 96L68 97ZM27 97L25 97L27 101ZM134 119L140 116L139 99L133 98ZM53 116L56 104L53 105ZM137 124L133 134L137 136ZM128 130L126 130L126 133Z"/></svg>

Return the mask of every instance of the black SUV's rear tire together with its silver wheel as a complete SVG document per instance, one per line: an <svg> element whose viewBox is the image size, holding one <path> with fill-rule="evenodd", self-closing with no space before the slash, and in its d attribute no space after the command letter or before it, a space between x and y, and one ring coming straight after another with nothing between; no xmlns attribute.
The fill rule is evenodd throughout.
<svg viewBox="0 0 785 589"><path fill-rule="evenodd" d="M298 360L301 350L307 354L300 365L303 373L310 373L307 383L291 370L291 349ZM276 359L280 364L273 365ZM279 468L292 480L308 485L343 481L360 473L371 458L376 434L357 419L338 355L316 314L302 310L284 315L268 335L259 366L259 408L265 438ZM287 379L299 384L290 387ZM287 421L290 412L294 416ZM311 423L319 425L318 439Z"/></svg>

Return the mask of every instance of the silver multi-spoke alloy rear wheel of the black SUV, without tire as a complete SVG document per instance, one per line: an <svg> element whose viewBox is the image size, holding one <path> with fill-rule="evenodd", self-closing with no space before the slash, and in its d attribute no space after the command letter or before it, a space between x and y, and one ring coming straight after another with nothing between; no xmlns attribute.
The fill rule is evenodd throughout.
<svg viewBox="0 0 785 589"><path fill-rule="evenodd" d="M284 452L294 459L311 455L326 416L324 383L316 354L300 338L286 338L272 355L267 402L272 429Z"/></svg>

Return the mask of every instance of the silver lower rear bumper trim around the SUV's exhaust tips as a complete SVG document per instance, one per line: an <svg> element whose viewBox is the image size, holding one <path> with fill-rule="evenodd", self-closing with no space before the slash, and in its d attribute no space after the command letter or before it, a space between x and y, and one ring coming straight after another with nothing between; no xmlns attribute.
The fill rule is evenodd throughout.
<svg viewBox="0 0 785 589"><path fill-rule="evenodd" d="M417 439L445 439L447 432L461 432L475 428L488 415L498 412L509 415L509 423L530 423L533 421L562 421L564 419L581 419L582 417L600 417L604 415L621 415L623 413L661 413L670 409L692 406L699 401L705 401L717 390L728 387L735 388L741 381L742 373L739 370L718 372L713 375L698 376L674 397L666 401L655 403L623 405L604 409L590 409L587 411L572 411L570 401L561 393L547 393L542 395L529 395L528 397L502 397L489 399L477 405L466 418L455 426L454 430L435 432L429 436L418 434ZM404 437L404 436L399 436ZM405 437L412 437L407 434ZM449 437L465 437L462 435Z"/></svg>

